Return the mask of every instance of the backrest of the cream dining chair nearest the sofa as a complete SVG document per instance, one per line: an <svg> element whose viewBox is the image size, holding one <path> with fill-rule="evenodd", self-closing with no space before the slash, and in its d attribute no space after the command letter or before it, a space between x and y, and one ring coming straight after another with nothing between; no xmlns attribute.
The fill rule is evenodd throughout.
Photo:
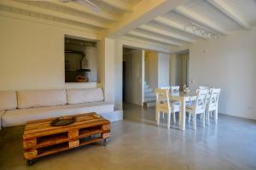
<svg viewBox="0 0 256 170"><path fill-rule="evenodd" d="M155 106L170 111L169 89L156 88L154 91L156 96Z"/></svg>

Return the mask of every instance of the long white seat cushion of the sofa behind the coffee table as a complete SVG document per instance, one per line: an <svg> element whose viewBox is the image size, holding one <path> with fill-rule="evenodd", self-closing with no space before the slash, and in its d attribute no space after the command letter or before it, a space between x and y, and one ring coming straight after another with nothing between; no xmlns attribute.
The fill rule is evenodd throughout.
<svg viewBox="0 0 256 170"><path fill-rule="evenodd" d="M26 124L28 121L50 117L68 116L96 112L99 114L113 112L113 104L108 102L93 102L76 105L57 105L30 109L6 111L2 117L3 127Z"/></svg>

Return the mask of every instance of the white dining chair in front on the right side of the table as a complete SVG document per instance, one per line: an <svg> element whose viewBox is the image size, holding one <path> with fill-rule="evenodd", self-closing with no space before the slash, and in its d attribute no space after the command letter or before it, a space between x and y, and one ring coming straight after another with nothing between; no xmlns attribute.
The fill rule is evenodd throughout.
<svg viewBox="0 0 256 170"><path fill-rule="evenodd" d="M196 115L201 114L202 116L202 125L205 127L205 112L207 105L207 95L209 93L208 89L198 89L196 90L196 100L192 105L186 106L186 111L189 112L189 122L190 117L193 117L193 127L196 129Z"/></svg>

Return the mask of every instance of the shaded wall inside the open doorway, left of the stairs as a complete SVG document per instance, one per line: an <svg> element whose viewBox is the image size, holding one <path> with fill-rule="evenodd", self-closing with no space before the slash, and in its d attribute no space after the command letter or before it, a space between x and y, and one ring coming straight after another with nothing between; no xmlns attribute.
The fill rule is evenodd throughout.
<svg viewBox="0 0 256 170"><path fill-rule="evenodd" d="M143 61L144 51L137 50L124 55L125 60L125 101L143 105Z"/></svg>

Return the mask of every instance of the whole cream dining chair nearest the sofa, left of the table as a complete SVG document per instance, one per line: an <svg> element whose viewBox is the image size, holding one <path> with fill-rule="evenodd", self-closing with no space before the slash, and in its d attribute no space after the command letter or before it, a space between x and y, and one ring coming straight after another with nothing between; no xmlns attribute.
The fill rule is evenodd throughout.
<svg viewBox="0 0 256 170"><path fill-rule="evenodd" d="M169 99L169 89L155 89L156 104L155 104L155 120L157 124L160 124L160 112L167 114L167 128L170 128L171 122L171 105Z"/></svg>

